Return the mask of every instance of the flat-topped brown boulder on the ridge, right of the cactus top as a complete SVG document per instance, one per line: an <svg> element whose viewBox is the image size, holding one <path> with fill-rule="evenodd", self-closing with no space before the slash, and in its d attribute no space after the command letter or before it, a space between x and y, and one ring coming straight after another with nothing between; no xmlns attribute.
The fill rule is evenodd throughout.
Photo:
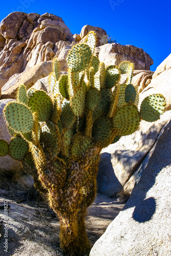
<svg viewBox="0 0 171 256"><path fill-rule="evenodd" d="M131 45L105 44L98 47L96 55L105 66L119 65L124 60L133 62L136 70L150 70L153 65L153 59L143 49Z"/></svg>

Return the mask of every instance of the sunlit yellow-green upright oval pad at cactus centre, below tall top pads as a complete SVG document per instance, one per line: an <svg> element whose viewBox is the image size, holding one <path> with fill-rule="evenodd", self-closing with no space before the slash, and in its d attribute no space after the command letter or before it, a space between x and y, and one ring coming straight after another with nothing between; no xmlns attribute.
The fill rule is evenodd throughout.
<svg viewBox="0 0 171 256"><path fill-rule="evenodd" d="M76 116L82 116L85 108L85 92L82 87L76 90L71 101L71 108Z"/></svg>

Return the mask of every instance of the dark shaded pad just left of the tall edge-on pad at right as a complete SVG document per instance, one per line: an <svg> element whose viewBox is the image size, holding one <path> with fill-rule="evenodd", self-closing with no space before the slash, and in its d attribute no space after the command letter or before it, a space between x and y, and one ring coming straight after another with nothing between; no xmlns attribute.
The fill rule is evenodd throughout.
<svg viewBox="0 0 171 256"><path fill-rule="evenodd" d="M112 92L110 89L102 89L100 92L101 98L97 105L97 109L101 115L104 115L110 111L112 103Z"/></svg>

